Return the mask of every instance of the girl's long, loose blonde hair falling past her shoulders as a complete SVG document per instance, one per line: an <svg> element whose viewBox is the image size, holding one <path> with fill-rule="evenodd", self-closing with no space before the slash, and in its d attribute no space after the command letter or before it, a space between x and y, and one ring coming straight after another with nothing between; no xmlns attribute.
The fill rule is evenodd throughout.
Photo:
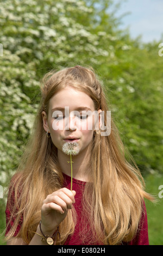
<svg viewBox="0 0 163 256"><path fill-rule="evenodd" d="M9 207L11 218L15 217L16 220L7 239L14 235L23 216L17 236L28 244L39 224L43 200L63 186L64 177L58 162L57 148L43 129L42 111L48 114L49 100L67 84L91 97L95 109L104 111L106 126L108 105L104 88L92 68L76 66L45 75L41 82L41 102L33 135L9 189L9 202L15 195L14 205L9 204ZM110 135L94 135L90 150L91 164L87 168L92 182L86 183L83 206L93 233L91 242L117 245L122 241L130 241L139 226L143 198L152 200L152 197L144 190L143 179L136 164L133 161L133 164L127 162L112 118ZM60 224L62 244L68 235L73 234L75 225L76 213L68 210L66 218ZM85 241L88 233L83 230Z"/></svg>

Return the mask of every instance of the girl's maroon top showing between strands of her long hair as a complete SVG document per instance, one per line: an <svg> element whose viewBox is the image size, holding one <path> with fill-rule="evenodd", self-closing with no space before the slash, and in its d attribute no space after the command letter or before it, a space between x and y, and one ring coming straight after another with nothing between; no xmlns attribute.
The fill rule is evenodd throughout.
<svg viewBox="0 0 163 256"><path fill-rule="evenodd" d="M66 174L64 174L65 177L65 183L64 183L64 187L67 187L68 189L70 189L71 187L71 177L67 176ZM84 181L80 181L80 180L76 180L76 178L73 178L73 184L72 184L72 189L76 191L76 196L75 196L75 200L76 203L74 203L74 207L76 209L77 212L77 225L75 227L74 233L72 236L68 236L66 242L64 243L64 245L102 245L99 242L96 242L94 244L92 244L91 242L89 242L89 237L91 237L91 233L89 233L89 237L85 242L82 242L82 240L80 240L80 230L82 230L82 197L83 197L83 191L84 191L84 187L85 187L86 182ZM14 197L13 197L13 202L14 202ZM144 204L145 207L145 213L143 213L142 218L141 218L141 225L140 225L140 229L139 231L137 231L137 234L135 236L135 238L128 242L128 243L122 243L123 245L149 245L149 240L148 240L148 224L147 224L147 212L146 212L146 206ZM6 207L6 221L7 224L9 222L11 213L8 209L8 204ZM15 219L13 218L12 221L10 222L10 226L7 228L5 235L8 234L10 227L13 225ZM16 236L18 234L18 232L20 231L21 228L21 223L23 222L23 219L21 219L21 222L18 224L17 229L15 231L14 236ZM89 225L89 223L87 223ZM91 232L91 231L90 231Z"/></svg>

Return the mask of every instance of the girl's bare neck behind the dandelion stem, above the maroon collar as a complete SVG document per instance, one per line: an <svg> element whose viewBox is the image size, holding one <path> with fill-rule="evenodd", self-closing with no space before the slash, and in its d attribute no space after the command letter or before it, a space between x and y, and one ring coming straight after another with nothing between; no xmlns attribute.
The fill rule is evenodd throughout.
<svg viewBox="0 0 163 256"><path fill-rule="evenodd" d="M70 156L58 150L58 159L61 170L64 174L71 176ZM88 149L79 152L77 156L72 156L72 177L81 181L88 181L87 166L89 164L90 155Z"/></svg>

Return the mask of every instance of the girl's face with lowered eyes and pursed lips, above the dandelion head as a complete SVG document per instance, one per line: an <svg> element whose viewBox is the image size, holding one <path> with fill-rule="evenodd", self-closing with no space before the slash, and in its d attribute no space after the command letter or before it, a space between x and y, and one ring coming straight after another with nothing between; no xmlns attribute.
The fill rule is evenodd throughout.
<svg viewBox="0 0 163 256"><path fill-rule="evenodd" d="M48 116L42 112L43 127L51 133L58 150L62 150L65 142L76 141L81 152L87 149L92 140L95 129L93 111L93 100L86 93L66 86L50 99Z"/></svg>

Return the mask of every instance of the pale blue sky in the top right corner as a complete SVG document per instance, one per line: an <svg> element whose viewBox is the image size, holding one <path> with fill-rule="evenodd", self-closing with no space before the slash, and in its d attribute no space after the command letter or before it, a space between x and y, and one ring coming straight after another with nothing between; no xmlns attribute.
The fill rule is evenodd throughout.
<svg viewBox="0 0 163 256"><path fill-rule="evenodd" d="M163 41L163 0L121 0L121 8L116 16L128 12L130 14L123 17L121 27L129 27L132 38L142 35L145 43Z"/></svg>

